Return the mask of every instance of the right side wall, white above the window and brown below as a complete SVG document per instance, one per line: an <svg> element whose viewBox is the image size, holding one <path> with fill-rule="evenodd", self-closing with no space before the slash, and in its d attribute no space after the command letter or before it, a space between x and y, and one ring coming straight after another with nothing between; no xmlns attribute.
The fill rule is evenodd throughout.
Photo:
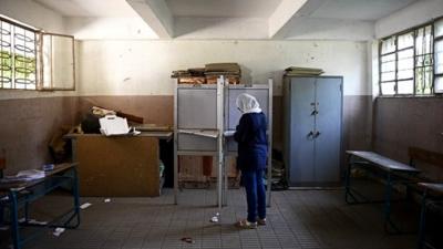
<svg viewBox="0 0 443 249"><path fill-rule="evenodd" d="M378 38L422 24L443 14L442 0L422 0L375 23ZM377 48L377 46L373 46ZM378 59L373 50L373 59ZM377 62L374 62L377 65ZM374 66L374 96L378 91L378 66ZM379 97L374 103L373 148L387 156L409 162L408 147L443 153L443 100L441 97ZM443 170L426 168L434 178Z"/></svg>

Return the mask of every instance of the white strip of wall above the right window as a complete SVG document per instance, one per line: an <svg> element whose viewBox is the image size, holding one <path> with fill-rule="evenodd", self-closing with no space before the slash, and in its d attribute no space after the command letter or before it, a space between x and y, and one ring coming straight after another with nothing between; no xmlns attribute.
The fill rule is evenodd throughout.
<svg viewBox="0 0 443 249"><path fill-rule="evenodd" d="M375 22L375 37L383 38L443 15L443 0L421 0Z"/></svg>

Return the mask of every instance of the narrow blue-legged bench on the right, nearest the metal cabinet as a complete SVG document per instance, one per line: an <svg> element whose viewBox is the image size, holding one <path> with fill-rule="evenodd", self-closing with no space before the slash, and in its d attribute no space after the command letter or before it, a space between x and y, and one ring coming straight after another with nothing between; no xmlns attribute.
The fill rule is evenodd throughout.
<svg viewBox="0 0 443 249"><path fill-rule="evenodd" d="M420 170L373 152L347 151L347 154L349 156L349 164L346 174L346 201L348 204L383 203L384 230L391 232L389 228L392 228L394 234L401 234L401 230L391 219L392 188L395 184L406 184L406 177L419 174ZM377 170L380 178L384 179L385 188L383 200L368 200L368 198L351 187L351 170L356 166L365 170Z"/></svg>

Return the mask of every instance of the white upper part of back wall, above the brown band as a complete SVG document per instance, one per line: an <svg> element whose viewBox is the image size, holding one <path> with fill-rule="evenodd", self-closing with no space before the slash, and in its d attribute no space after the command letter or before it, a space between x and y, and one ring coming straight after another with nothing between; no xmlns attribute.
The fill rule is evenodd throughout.
<svg viewBox="0 0 443 249"><path fill-rule="evenodd" d="M81 41L81 95L173 95L173 70L238 62L254 83L275 80L281 94L284 69L321 68L343 75L344 95L371 95L365 42L347 41Z"/></svg>

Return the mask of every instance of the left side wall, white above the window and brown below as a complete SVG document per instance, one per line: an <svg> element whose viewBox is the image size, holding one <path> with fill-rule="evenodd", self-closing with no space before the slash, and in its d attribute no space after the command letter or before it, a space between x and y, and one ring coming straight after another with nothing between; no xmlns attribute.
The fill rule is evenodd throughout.
<svg viewBox="0 0 443 249"><path fill-rule="evenodd" d="M49 32L64 32L63 18L31 0L1 0L0 14ZM50 162L48 143L78 118L76 92L0 90L0 148L7 174Z"/></svg>

